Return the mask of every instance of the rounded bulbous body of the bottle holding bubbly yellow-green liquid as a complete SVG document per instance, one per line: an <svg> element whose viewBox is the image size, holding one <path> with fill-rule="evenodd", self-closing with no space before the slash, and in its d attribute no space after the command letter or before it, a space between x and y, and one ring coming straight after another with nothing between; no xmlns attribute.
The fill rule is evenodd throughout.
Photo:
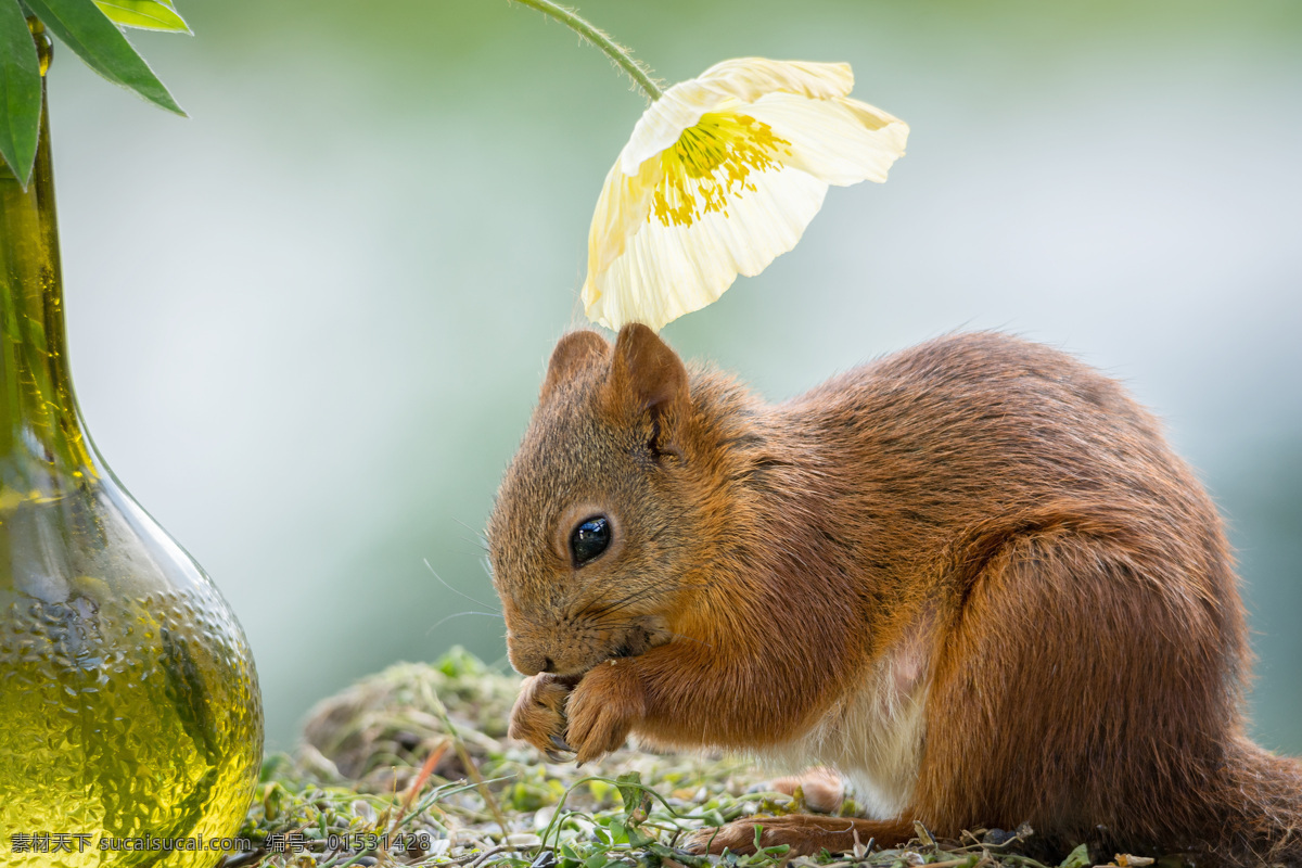
<svg viewBox="0 0 1302 868"><path fill-rule="evenodd" d="M225 600L112 478L7 508L0 550L0 861L215 864L262 759Z"/></svg>

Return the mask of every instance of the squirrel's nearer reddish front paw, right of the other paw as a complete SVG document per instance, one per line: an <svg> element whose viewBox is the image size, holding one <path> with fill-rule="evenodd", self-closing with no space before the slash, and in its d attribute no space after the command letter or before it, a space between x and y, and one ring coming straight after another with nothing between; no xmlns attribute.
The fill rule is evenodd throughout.
<svg viewBox="0 0 1302 868"><path fill-rule="evenodd" d="M565 740L579 764L624 747L634 724L646 713L646 700L626 660L599 664L574 688L566 714Z"/></svg>

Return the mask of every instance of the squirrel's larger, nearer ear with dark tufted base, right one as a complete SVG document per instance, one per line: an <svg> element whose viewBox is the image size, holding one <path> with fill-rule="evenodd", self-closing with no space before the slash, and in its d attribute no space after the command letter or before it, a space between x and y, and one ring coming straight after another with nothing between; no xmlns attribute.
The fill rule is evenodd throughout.
<svg viewBox="0 0 1302 868"><path fill-rule="evenodd" d="M660 441L664 433L672 436L663 428L665 416L681 422L687 410L687 368L655 332L641 323L620 329L608 388L613 407L651 415L652 450L677 452Z"/></svg>

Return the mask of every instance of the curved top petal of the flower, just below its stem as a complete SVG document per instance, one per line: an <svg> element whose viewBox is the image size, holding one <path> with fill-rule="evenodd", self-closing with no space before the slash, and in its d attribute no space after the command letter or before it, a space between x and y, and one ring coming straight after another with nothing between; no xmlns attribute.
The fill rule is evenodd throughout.
<svg viewBox="0 0 1302 868"><path fill-rule="evenodd" d="M620 152L625 174L678 141L707 112L736 108L764 94L798 94L810 99L845 96L854 86L849 64L741 57L715 64L700 75L678 82L638 120Z"/></svg>

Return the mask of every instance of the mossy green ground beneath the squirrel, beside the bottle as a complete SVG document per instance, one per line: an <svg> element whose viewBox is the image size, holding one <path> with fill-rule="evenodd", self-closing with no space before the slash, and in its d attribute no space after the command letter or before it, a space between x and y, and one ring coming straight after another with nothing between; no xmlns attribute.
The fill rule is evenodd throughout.
<svg viewBox="0 0 1302 868"><path fill-rule="evenodd" d="M223 868L1040 865L1017 852L1016 837L996 843L1006 835L974 830L937 842L921 826L902 850L694 856L680 845L695 829L806 809L799 794L764 791L764 770L727 757L620 751L582 769L549 763L506 739L517 686L453 649L323 701L298 752L267 757L240 830L255 850L227 856ZM840 808L854 812L849 800ZM1083 848L1061 863L1088 864Z"/></svg>

